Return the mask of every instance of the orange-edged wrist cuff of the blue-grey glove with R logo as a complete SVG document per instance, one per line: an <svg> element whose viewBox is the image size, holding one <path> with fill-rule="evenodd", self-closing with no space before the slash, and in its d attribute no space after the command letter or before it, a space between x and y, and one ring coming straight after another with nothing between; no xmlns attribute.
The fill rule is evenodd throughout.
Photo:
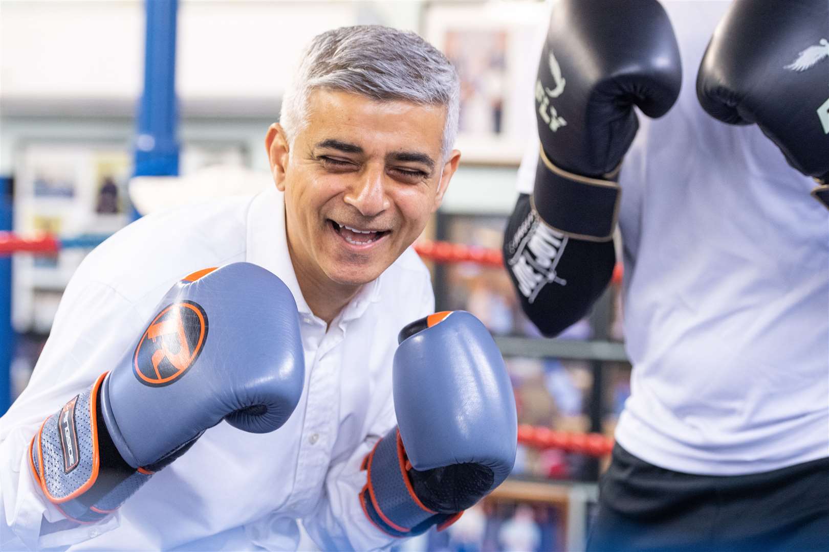
<svg viewBox="0 0 829 552"><path fill-rule="evenodd" d="M46 418L29 444L29 465L41 491L67 518L80 523L109 516L153 474L128 466L127 473L113 473L102 466L98 398L105 376ZM111 448L109 454L117 454Z"/></svg>

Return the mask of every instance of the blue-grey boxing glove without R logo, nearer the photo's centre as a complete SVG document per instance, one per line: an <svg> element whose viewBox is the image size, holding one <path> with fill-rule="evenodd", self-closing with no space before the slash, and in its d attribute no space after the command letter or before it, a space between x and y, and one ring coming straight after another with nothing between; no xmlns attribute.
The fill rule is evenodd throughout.
<svg viewBox="0 0 829 552"><path fill-rule="evenodd" d="M516 405L501 353L464 311L400 332L394 361L398 426L363 461L366 516L393 536L442 529L507 478Z"/></svg>

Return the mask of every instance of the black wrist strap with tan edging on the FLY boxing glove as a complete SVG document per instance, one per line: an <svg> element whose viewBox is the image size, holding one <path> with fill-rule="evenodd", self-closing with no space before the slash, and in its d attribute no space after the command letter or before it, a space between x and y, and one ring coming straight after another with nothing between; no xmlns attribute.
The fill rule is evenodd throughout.
<svg viewBox="0 0 829 552"><path fill-rule="evenodd" d="M608 177L618 174L618 167ZM575 175L553 165L541 148L533 209L550 228L575 239L608 242L616 228L621 189L613 180Z"/></svg>

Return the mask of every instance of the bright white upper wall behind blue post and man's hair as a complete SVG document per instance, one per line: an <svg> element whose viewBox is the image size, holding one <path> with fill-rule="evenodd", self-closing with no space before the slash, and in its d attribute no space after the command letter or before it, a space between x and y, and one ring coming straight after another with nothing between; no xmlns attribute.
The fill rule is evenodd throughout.
<svg viewBox="0 0 829 552"><path fill-rule="evenodd" d="M279 97L300 50L319 32L358 22L414 28L421 2L180 3L182 98ZM374 9L378 7L379 9ZM118 2L0 2L2 98L137 98L144 6Z"/></svg>

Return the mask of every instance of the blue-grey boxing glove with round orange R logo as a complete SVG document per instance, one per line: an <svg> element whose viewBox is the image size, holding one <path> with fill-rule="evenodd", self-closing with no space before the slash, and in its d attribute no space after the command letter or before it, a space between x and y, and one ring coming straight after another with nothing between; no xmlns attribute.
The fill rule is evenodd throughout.
<svg viewBox="0 0 829 552"><path fill-rule="evenodd" d="M112 372L44 421L32 473L65 516L98 521L221 420L279 429L304 369L297 306L278 277L247 262L198 271Z"/></svg>

